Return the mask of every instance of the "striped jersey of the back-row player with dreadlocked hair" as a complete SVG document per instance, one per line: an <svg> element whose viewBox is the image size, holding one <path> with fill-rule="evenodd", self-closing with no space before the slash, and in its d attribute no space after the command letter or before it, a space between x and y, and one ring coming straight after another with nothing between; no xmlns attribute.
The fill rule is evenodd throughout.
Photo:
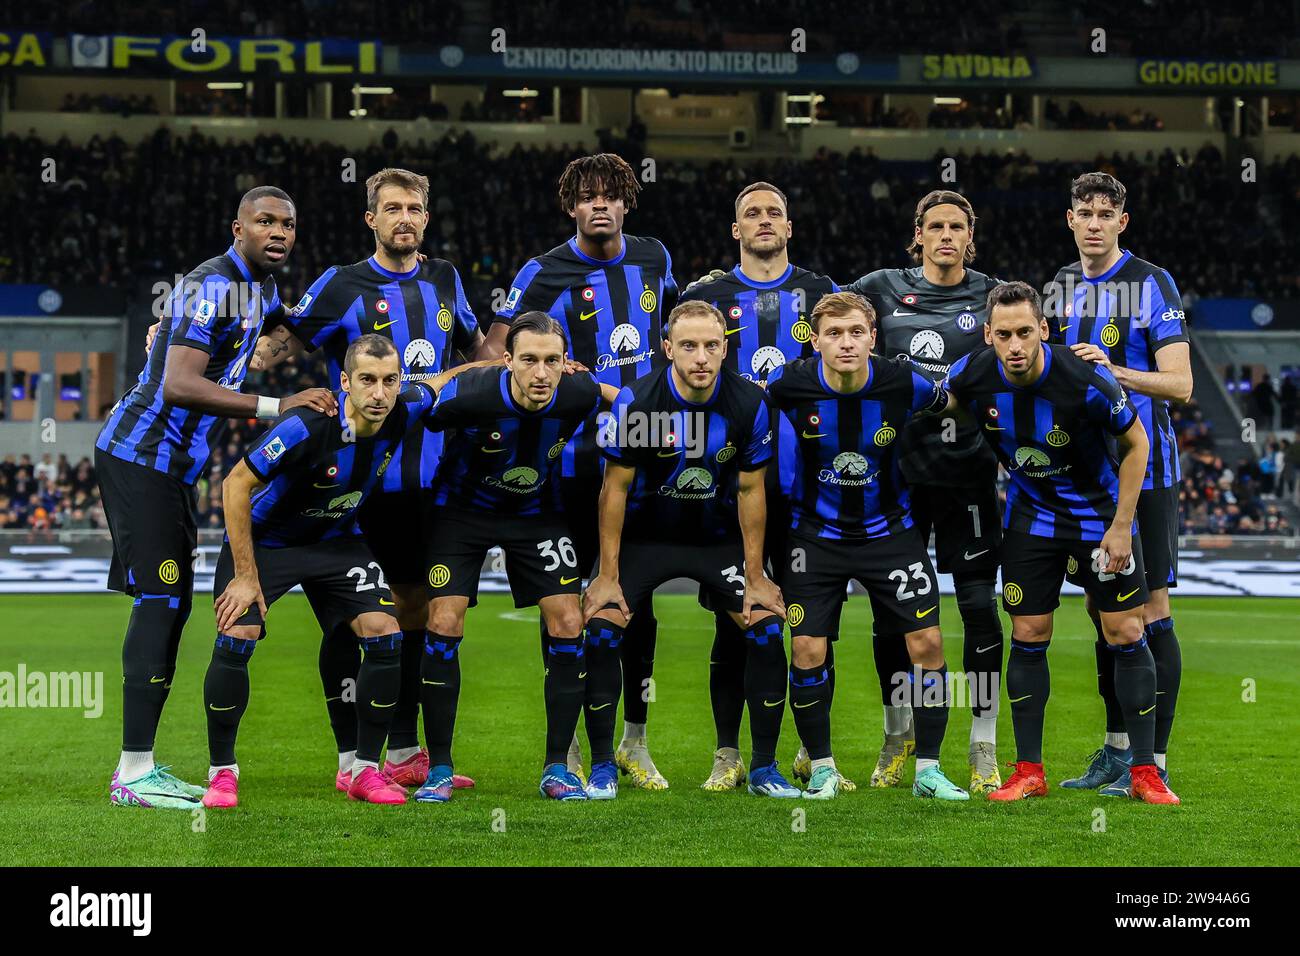
<svg viewBox="0 0 1300 956"><path fill-rule="evenodd" d="M676 304L668 250L658 239L624 234L614 259L585 255L577 239L529 259L497 321L546 312L564 326L569 355L597 381L621 388L664 363L663 323ZM566 477L599 477L594 421L578 432L560 464Z"/></svg>

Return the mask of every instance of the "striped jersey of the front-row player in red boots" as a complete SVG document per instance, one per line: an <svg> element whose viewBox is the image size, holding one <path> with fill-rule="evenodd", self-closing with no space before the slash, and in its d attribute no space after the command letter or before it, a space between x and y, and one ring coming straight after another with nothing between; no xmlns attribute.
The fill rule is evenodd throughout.
<svg viewBox="0 0 1300 956"><path fill-rule="evenodd" d="M1105 536L1119 498L1113 438L1138 420L1110 372L1044 342L1032 385L1010 384L992 349L953 363L944 385L1011 476L1008 528L1070 541Z"/></svg>

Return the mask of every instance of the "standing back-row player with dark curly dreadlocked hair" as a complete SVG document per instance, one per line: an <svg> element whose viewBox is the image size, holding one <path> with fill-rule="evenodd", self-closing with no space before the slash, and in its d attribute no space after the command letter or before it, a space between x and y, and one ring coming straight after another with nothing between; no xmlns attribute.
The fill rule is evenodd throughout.
<svg viewBox="0 0 1300 956"><path fill-rule="evenodd" d="M506 304L488 330L485 358L500 355L514 319L546 312L564 329L569 355L603 385L621 389L663 364L656 345L663 317L677 303L672 259L658 239L628 235L623 220L636 208L641 185L621 157L610 152L569 163L559 179L560 208L576 234L550 252L530 259L515 277ZM573 436L562 459L564 512L573 527L578 567L589 575L599 553L597 501L601 455L593 416ZM667 790L646 747L646 706L658 622L653 607L633 609L621 646L624 685L623 741L615 758L634 787ZM543 654L547 636L542 635ZM569 770L581 773L577 737Z"/></svg>

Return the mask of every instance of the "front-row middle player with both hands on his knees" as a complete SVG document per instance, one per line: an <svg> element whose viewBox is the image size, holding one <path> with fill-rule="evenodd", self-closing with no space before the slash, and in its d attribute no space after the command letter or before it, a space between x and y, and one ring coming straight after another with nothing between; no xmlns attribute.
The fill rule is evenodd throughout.
<svg viewBox="0 0 1300 956"><path fill-rule="evenodd" d="M762 388L723 368L725 328L722 312L706 302L672 310L663 341L671 364L619 393L601 437L601 564L584 600L588 795L595 800L618 795L618 646L629 607L673 578L698 583L742 628L750 793L800 795L776 769L785 711L785 605L763 574L763 473L772 432Z"/></svg>

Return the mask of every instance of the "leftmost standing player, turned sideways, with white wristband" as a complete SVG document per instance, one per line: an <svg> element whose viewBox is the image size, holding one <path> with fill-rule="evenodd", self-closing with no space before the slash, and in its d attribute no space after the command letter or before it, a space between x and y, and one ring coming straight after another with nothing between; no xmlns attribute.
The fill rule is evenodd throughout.
<svg viewBox="0 0 1300 956"><path fill-rule="evenodd" d="M153 739L194 594L194 483L228 419L338 407L326 389L283 399L239 393L263 321L281 311L270 271L294 248L294 200L274 186L248 190L230 229L230 248L173 290L139 381L95 440L113 535L108 587L135 597L122 643L122 756L109 784L118 806L192 809L204 792L155 763Z"/></svg>

